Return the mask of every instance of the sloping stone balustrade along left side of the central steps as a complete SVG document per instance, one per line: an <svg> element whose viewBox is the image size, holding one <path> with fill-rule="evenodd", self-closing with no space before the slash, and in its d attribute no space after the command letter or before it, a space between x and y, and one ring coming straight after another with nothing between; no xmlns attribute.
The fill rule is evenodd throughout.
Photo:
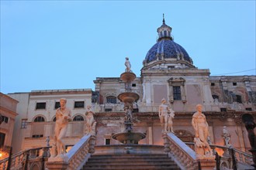
<svg viewBox="0 0 256 170"><path fill-rule="evenodd" d="M81 138L70 151L67 152L67 160L55 160L49 158L47 168L52 169L81 169L95 149L95 136L89 134Z"/></svg>

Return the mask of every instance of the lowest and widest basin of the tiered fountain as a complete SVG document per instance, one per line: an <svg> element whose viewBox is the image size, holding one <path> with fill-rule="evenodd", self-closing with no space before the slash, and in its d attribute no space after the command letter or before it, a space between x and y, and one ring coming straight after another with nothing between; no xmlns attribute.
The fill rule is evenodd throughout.
<svg viewBox="0 0 256 170"><path fill-rule="evenodd" d="M112 138L123 144L138 144L141 139L146 138L146 134L140 132L120 132L113 134Z"/></svg>

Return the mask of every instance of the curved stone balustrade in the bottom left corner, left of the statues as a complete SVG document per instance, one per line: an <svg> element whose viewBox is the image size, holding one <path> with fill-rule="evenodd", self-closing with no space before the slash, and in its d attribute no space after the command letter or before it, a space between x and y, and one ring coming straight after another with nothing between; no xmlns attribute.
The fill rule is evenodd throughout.
<svg viewBox="0 0 256 170"><path fill-rule="evenodd" d="M40 147L28 149L25 151L19 151L15 155L12 155L9 168L12 170L29 168L35 164L36 166L42 169L44 167L44 161L50 156L50 147ZM9 158L5 158L0 161L0 169L7 169L9 164Z"/></svg>

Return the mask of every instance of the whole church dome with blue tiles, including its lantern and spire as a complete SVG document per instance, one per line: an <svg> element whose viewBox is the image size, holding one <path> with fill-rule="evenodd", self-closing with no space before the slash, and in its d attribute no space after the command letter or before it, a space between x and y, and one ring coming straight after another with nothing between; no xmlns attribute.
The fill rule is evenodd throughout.
<svg viewBox="0 0 256 170"><path fill-rule="evenodd" d="M195 67L186 50L174 42L171 37L171 27L165 24L164 18L163 24L157 29L157 32L157 43L147 52L144 66L147 66L147 68L150 66L159 68L157 66L161 65L161 69ZM163 67L163 65L166 66Z"/></svg>

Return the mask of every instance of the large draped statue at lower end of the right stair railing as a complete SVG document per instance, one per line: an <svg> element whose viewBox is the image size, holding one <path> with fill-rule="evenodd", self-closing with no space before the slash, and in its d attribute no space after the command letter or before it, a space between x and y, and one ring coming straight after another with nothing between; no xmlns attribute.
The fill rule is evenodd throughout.
<svg viewBox="0 0 256 170"><path fill-rule="evenodd" d="M214 158L213 151L209 147L207 138L209 136L209 126L206 121L206 116L202 114L202 105L196 105L195 114L192 117L192 126L195 130L195 153L196 158Z"/></svg>

